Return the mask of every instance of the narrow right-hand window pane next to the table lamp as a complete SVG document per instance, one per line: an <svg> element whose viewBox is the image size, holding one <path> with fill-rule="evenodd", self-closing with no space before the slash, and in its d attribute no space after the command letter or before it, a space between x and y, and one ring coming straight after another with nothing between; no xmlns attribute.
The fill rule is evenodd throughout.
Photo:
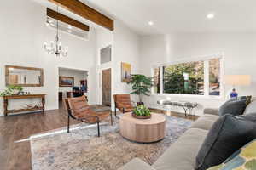
<svg viewBox="0 0 256 170"><path fill-rule="evenodd" d="M209 95L219 95L220 59L209 61Z"/></svg>

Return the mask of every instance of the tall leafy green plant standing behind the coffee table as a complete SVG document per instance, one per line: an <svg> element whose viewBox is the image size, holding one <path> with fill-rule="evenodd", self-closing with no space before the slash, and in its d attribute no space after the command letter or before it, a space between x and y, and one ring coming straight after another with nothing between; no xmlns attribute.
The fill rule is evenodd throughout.
<svg viewBox="0 0 256 170"><path fill-rule="evenodd" d="M137 94L139 96L139 102L137 105L143 104L143 95L150 95L150 88L153 87L153 81L151 77L146 77L144 75L131 75L131 80L127 82L131 84L132 92L131 94Z"/></svg>

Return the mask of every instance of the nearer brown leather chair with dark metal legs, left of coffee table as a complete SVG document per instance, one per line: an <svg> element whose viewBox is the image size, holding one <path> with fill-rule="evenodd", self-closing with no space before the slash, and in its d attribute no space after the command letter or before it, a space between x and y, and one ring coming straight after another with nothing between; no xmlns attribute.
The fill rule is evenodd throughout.
<svg viewBox="0 0 256 170"><path fill-rule="evenodd" d="M86 123L97 123L98 128L98 136L100 136L100 122L110 116L111 125L113 125L112 112L104 111L104 112L95 112L90 109L90 106L87 104L87 99L85 96L81 96L78 98L67 98L63 100L65 108L67 110L67 133L69 133L69 122L70 117Z"/></svg>

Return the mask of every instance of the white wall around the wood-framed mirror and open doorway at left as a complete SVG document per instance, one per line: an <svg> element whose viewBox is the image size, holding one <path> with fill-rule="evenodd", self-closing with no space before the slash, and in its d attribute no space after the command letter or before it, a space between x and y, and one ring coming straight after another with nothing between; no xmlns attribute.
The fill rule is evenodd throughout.
<svg viewBox="0 0 256 170"><path fill-rule="evenodd" d="M11 11L10 11L11 9ZM4 65L44 68L44 87L25 88L32 94L47 94L46 109L58 108L58 67L89 71L89 102L96 103L96 36L92 28L90 41L61 33L63 46L69 47L67 58L44 52L43 43L52 41L55 31L45 26L45 8L30 0L9 0L0 6L0 90L5 89ZM20 107L17 103L16 106ZM0 100L0 114L3 101Z"/></svg>

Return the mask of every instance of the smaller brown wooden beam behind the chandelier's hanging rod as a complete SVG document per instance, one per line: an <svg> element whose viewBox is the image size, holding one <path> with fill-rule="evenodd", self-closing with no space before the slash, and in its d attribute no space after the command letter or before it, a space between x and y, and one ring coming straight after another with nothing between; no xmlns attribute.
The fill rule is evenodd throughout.
<svg viewBox="0 0 256 170"><path fill-rule="evenodd" d="M62 22L65 22L71 26L75 26L81 30L84 30L84 31L90 31L90 27L77 21L77 20L73 20L72 18L69 18L68 16L64 15L64 14L61 14L61 13L58 13L58 12L55 12L54 10L51 10L50 8L47 8L46 9L46 14L47 16L55 19L55 20L61 20Z"/></svg>

